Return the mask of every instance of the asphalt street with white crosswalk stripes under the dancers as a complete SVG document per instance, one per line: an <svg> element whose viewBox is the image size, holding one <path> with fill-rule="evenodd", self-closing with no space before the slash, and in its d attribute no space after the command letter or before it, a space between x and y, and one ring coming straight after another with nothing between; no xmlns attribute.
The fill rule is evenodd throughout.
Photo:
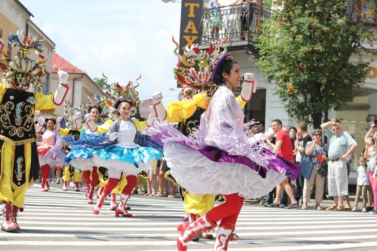
<svg viewBox="0 0 377 251"><path fill-rule="evenodd" d="M85 190L61 188L53 185L45 193L40 184L29 188L18 218L22 230L0 231L1 250L176 250L176 226L184 216L180 198L133 195L128 203L133 217L124 218L114 216L109 200L95 215ZM229 250L376 250L377 215L317 211L311 204L307 210L245 204L235 233L239 238ZM214 240L192 241L188 250L213 245Z"/></svg>

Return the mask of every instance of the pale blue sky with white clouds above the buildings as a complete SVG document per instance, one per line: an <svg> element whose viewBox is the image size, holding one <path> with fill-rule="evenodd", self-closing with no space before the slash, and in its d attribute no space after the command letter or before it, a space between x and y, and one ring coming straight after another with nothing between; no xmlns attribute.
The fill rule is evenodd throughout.
<svg viewBox="0 0 377 251"><path fill-rule="evenodd" d="M163 104L177 101L173 54L179 38L178 2L161 0L20 0L31 21L55 43L55 51L91 79L126 85L138 80L140 100L161 91ZM38 3L38 4L36 4ZM34 36L33 34L29 34ZM174 88L176 90L169 90Z"/></svg>

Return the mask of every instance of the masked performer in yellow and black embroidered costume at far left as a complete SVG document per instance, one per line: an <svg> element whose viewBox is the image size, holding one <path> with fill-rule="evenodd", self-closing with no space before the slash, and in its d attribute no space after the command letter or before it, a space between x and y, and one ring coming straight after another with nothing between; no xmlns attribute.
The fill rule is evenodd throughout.
<svg viewBox="0 0 377 251"><path fill-rule="evenodd" d="M20 40L22 38L22 40ZM25 193L30 185L39 181L39 160L34 128L34 111L49 110L61 105L69 96L68 73L59 69L60 84L55 94L43 95L36 91L42 87L46 59L38 38L23 37L22 31L10 33L8 42L20 48L21 57L13 60L4 51L5 42L0 39L0 68L3 81L0 84L0 200L3 210L2 230L20 230L17 224L18 211L23 211ZM40 60L27 59L30 50L35 50Z"/></svg>

